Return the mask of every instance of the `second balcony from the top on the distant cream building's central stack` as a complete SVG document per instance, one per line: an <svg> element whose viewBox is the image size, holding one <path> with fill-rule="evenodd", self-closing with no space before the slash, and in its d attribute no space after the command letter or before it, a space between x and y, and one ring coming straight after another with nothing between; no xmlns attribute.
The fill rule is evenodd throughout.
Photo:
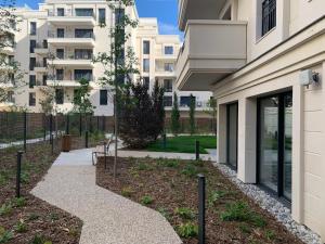
<svg viewBox="0 0 325 244"><path fill-rule="evenodd" d="M48 37L49 44L54 46L81 46L93 48L95 44L95 37L93 34L78 37L73 33L67 33L64 37L60 37L54 31L49 31Z"/></svg>

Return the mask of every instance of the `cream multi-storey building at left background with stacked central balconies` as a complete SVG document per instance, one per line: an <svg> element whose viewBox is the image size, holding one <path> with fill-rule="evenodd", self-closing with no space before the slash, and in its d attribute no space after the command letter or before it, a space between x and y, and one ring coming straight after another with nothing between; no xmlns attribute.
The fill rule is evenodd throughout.
<svg viewBox="0 0 325 244"><path fill-rule="evenodd" d="M118 13L138 18L135 8ZM90 80L94 114L112 116L113 92L99 81L104 66L92 62L93 55L110 50L109 30L117 14L107 1L46 0L39 3L39 10L20 8L16 15L22 21L15 34L14 57L25 73L25 86L16 89L15 104L41 112L40 102L48 88L53 88L56 111L67 113L73 110L78 80L84 78ZM127 46L134 46L134 41L133 37Z"/></svg>

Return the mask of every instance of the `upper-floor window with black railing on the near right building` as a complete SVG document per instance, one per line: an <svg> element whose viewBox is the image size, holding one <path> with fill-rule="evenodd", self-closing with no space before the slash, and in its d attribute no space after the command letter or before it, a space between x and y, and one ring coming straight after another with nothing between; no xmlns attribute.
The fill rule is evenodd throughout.
<svg viewBox="0 0 325 244"><path fill-rule="evenodd" d="M262 2L262 36L276 26L276 0Z"/></svg>

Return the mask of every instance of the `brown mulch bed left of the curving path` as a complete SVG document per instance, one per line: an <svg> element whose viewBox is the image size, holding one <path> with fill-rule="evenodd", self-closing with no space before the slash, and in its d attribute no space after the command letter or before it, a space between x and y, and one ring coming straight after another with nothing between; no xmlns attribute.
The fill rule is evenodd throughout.
<svg viewBox="0 0 325 244"><path fill-rule="evenodd" d="M0 150L0 243L79 243L82 227L79 218L29 194L58 156L60 144L55 144L53 155L49 142L28 145L22 163L23 198L18 201L15 200L17 149ZM74 149L81 146L79 142Z"/></svg>

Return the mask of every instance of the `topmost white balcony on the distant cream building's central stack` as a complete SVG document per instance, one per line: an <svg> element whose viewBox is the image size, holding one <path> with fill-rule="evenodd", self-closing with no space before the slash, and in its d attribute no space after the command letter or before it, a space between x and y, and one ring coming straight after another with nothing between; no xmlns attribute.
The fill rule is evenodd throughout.
<svg viewBox="0 0 325 244"><path fill-rule="evenodd" d="M64 15L58 15L57 13L49 13L48 21L52 25L64 25L64 26L84 26L84 27L94 27L96 22L94 16L77 16L72 12L66 12Z"/></svg>

